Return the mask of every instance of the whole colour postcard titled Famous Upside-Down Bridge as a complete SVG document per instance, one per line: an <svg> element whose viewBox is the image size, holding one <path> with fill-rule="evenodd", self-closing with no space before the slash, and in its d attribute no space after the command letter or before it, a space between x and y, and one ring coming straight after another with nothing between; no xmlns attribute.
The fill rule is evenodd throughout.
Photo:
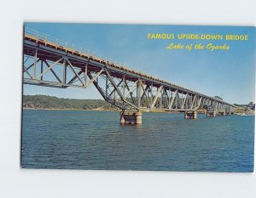
<svg viewBox="0 0 256 198"><path fill-rule="evenodd" d="M255 33L25 23L21 167L253 172Z"/></svg>

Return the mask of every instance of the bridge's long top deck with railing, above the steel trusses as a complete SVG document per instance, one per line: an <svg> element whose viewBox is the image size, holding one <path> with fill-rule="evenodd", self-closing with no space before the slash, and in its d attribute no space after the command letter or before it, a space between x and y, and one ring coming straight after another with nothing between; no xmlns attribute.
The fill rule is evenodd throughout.
<svg viewBox="0 0 256 198"><path fill-rule="evenodd" d="M58 55L49 54L49 51L54 51L55 54L67 55L70 59L73 60L73 62L75 62L75 66L79 67L80 69L83 69L85 67L84 62L83 62L83 60L85 60L86 62L89 63L87 66L90 67L91 71L99 71L99 69L101 69L101 67L108 67L109 72L111 72L111 75L114 77L122 78L125 74L126 79L130 80L131 82L136 82L137 79L140 78L143 80L143 83L146 85L150 85L150 84L154 83L154 87L163 86L165 88L170 89L170 91L178 90L178 92L180 92L180 93L195 94L197 96L204 97L206 99L212 99L212 100L218 101L222 104L236 107L235 105L226 103L221 99L209 97L205 94L198 93L198 92L195 92L188 88L183 88L181 86L178 86L177 84L174 84L172 82L166 82L166 81L156 78L154 76L148 76L145 73L125 68L122 65L117 65L117 64L110 62L106 59L101 59L99 57L96 57L96 56L93 56L90 54L85 54L84 52L79 51L75 48L70 48L68 46L65 46L65 43L61 44L61 43L57 43L57 42L50 42L47 39L44 40L42 38L35 37L35 36L25 33L24 34L24 51L23 51L23 53L26 55L30 55L30 54L32 54L31 47L37 47L37 46L40 46L40 53L38 53L38 58L40 58L40 57L44 58L44 59L47 58L47 59L55 62L60 57ZM104 73L104 71L102 73Z"/></svg>

